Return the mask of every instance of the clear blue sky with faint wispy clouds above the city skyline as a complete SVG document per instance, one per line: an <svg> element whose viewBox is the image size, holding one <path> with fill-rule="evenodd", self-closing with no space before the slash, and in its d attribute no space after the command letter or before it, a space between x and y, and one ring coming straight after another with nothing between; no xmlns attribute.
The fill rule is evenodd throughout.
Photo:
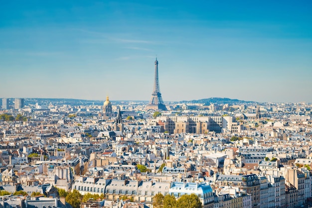
<svg viewBox="0 0 312 208"><path fill-rule="evenodd" d="M195 3L196 2L196 3ZM0 98L312 102L312 1L2 1Z"/></svg>

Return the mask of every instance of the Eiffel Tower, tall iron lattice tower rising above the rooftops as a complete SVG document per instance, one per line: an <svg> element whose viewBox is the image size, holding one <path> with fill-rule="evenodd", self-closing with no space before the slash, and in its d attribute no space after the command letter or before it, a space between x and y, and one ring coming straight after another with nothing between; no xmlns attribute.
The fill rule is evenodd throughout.
<svg viewBox="0 0 312 208"><path fill-rule="evenodd" d="M167 110L166 106L164 105L161 93L159 89L159 80L158 80L158 61L156 58L155 61L155 80L154 80L154 89L152 93L152 98L150 103L147 105L147 110Z"/></svg>

